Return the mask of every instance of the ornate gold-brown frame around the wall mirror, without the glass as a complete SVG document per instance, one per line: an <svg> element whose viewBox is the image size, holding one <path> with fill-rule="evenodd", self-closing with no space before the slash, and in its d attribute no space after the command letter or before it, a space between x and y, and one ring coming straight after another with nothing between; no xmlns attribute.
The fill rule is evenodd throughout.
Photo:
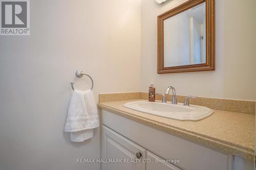
<svg viewBox="0 0 256 170"><path fill-rule="evenodd" d="M206 6L206 63L164 67L164 20L205 2ZM158 64L157 73L215 70L215 0L189 0L157 17L158 22Z"/></svg>

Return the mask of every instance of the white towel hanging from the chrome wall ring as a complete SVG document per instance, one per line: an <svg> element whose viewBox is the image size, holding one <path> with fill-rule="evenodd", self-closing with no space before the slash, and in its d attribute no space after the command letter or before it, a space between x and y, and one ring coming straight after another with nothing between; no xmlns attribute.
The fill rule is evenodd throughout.
<svg viewBox="0 0 256 170"><path fill-rule="evenodd" d="M99 127L99 118L92 90L74 90L65 132L71 132L71 141L80 142L93 137L93 129Z"/></svg>

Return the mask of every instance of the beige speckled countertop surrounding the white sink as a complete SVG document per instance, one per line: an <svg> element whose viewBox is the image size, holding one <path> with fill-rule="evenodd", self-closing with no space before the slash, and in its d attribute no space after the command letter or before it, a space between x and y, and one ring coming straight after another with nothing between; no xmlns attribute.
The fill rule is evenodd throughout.
<svg viewBox="0 0 256 170"><path fill-rule="evenodd" d="M123 107L126 100L99 103L98 107L157 130L204 145L214 150L254 160L254 115L215 110L199 120L180 121Z"/></svg>

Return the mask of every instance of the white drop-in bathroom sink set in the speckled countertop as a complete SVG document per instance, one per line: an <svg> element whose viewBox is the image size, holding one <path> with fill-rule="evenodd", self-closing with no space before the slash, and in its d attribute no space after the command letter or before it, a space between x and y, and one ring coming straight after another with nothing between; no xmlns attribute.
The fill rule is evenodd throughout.
<svg viewBox="0 0 256 170"><path fill-rule="evenodd" d="M173 105L170 103L161 103L160 101L148 102L137 101L129 102L123 105L124 107L145 112L148 114L154 114L157 116L173 118L178 120L201 120L214 113L214 110L203 106L183 106L182 103Z"/></svg>

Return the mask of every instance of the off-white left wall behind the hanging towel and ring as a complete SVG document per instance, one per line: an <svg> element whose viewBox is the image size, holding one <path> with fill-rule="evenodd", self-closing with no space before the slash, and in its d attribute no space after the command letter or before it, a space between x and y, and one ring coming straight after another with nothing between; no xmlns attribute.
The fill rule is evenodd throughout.
<svg viewBox="0 0 256 170"><path fill-rule="evenodd" d="M82 69L96 101L101 92L139 91L140 1L30 3L31 35L0 37L0 169L98 170L76 159L100 157L99 129L81 143L63 132L69 83L90 86L74 75Z"/></svg>

